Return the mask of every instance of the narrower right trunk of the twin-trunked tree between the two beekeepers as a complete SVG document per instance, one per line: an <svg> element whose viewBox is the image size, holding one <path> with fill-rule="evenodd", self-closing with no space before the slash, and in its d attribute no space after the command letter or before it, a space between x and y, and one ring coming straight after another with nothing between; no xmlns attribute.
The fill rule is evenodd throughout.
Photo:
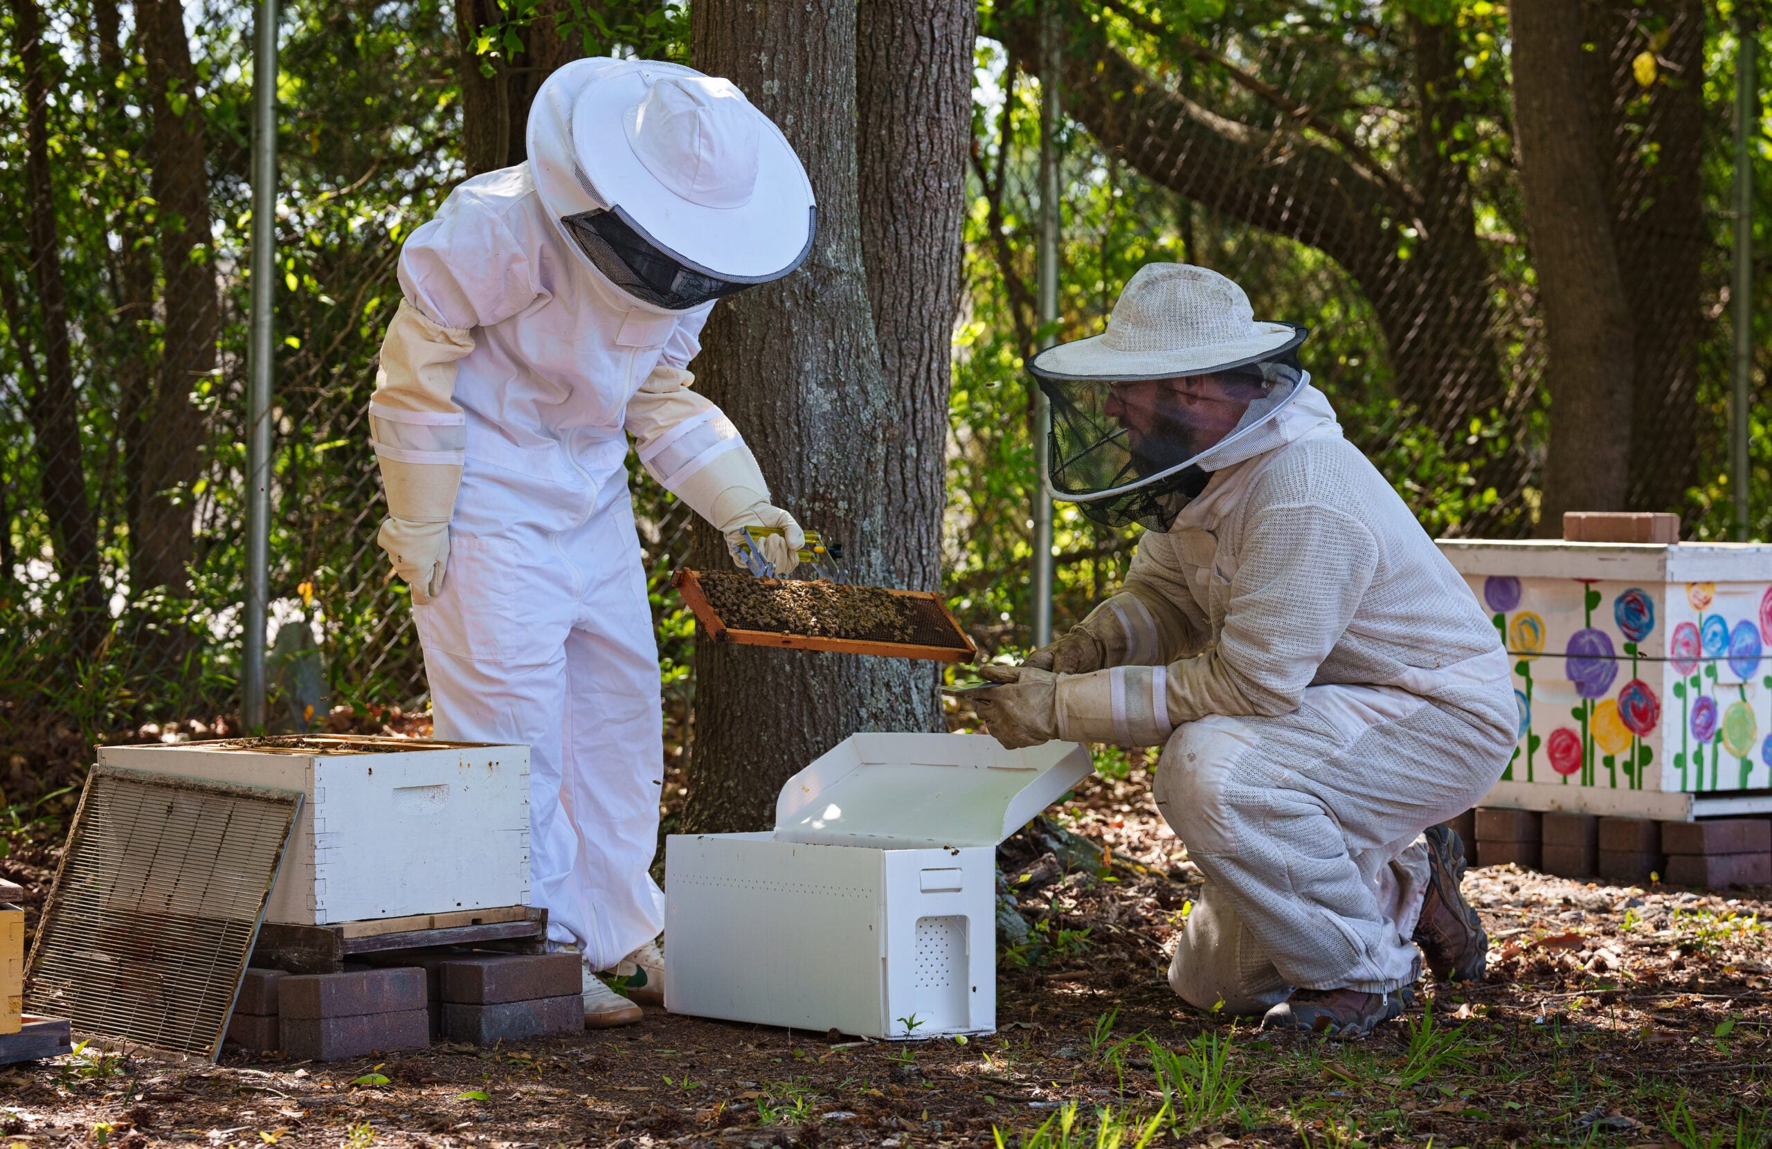
<svg viewBox="0 0 1772 1149"><path fill-rule="evenodd" d="M897 408L882 427L886 505L895 509L884 550L893 585L911 590L941 589L976 32L968 0L874 0L859 7L856 30L861 252ZM905 729L944 731L941 676L923 667Z"/></svg>

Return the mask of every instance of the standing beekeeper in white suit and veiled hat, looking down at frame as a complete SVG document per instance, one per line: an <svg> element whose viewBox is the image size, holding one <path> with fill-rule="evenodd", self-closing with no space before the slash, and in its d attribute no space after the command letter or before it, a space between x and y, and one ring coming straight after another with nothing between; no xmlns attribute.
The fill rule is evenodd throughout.
<svg viewBox="0 0 1772 1149"><path fill-rule="evenodd" d="M627 436L728 543L780 528L762 550L794 567L799 525L688 365L714 300L806 257L813 197L739 89L673 64L567 64L528 156L462 183L400 252L369 408L379 541L411 585L436 736L530 746L532 899L583 952L587 1025L622 1025L661 1000L664 922Z"/></svg>

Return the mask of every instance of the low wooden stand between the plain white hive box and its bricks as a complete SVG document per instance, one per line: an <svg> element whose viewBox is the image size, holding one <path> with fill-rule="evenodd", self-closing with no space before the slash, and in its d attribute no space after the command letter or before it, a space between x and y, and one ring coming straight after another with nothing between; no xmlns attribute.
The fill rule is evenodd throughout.
<svg viewBox="0 0 1772 1149"><path fill-rule="evenodd" d="M333 926L266 922L259 927L252 965L285 973L337 973L346 961L361 954L450 945L539 954L546 942L548 911L540 906L457 910Z"/></svg>

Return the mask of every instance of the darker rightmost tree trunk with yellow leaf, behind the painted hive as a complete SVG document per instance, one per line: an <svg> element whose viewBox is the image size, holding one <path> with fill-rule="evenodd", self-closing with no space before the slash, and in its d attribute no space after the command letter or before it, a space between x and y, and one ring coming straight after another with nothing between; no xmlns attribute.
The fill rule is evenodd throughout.
<svg viewBox="0 0 1772 1149"><path fill-rule="evenodd" d="M1613 213L1636 358L1630 511L1687 511L1698 484L1698 348L1705 335L1705 5L1589 4L1595 151ZM1650 83L1637 57L1657 60Z"/></svg>

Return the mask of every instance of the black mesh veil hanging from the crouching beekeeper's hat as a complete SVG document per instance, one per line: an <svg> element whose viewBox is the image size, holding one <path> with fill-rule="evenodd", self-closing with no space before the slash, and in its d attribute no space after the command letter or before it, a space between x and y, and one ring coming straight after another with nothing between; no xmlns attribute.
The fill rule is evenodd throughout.
<svg viewBox="0 0 1772 1149"><path fill-rule="evenodd" d="M1108 527L1168 530L1219 447L1253 434L1310 381L1299 342L1265 358L1173 378L1060 378L1033 371L1053 410L1053 498Z"/></svg>

